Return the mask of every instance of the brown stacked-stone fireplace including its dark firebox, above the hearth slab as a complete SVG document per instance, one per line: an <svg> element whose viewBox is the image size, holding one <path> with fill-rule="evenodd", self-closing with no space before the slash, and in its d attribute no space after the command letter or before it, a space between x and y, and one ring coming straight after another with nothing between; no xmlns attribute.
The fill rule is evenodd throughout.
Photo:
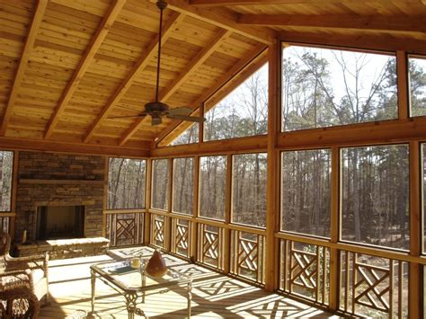
<svg viewBox="0 0 426 319"><path fill-rule="evenodd" d="M20 152L15 239L102 236L104 170L103 156Z"/></svg>

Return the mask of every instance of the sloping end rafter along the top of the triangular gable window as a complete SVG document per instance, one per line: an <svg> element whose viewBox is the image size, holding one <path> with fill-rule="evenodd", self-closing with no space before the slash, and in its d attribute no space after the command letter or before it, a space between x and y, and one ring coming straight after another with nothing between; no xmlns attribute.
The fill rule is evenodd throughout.
<svg viewBox="0 0 426 319"><path fill-rule="evenodd" d="M253 59L259 58L260 55L262 55L262 52L265 52L265 49L266 49L266 47L263 46L263 45L258 46L256 49L253 49L253 51L250 52L249 54L247 54L244 59L241 59L237 64L235 64L235 66L233 66L228 72L226 72L225 75L223 75L220 79L218 79L217 83L215 85L211 86L209 88L209 90L207 90L205 93L202 93L200 95L200 97L197 99L197 101L192 103L192 108L194 109L193 113L197 112L201 103L207 101L214 93L217 93L217 91L221 87L223 87L230 79L232 79L235 75L240 73L242 71L242 69L244 68L244 66L247 66L247 64L252 62ZM265 55L263 55L263 57L261 57L261 59L263 59L262 63L264 63L265 57L266 57ZM258 68L259 66L255 66L255 67ZM253 72L254 71L255 70L253 70ZM248 75L248 76L250 76L250 75ZM244 77L244 78L246 78L246 77ZM240 83L241 82L238 81L238 84L240 84ZM236 82L232 85L229 85L229 87L226 88L226 92L228 93L228 92L232 91L236 86L237 86ZM224 93L220 94L220 96L223 96L223 95L224 95ZM211 104L210 104L210 106L211 106ZM208 108L206 109L206 111L208 111ZM198 115L200 115L200 114L198 114ZM192 125L191 122L182 122L182 123L174 122L174 123L172 123L170 126L164 128L158 134L158 136L156 138L158 145L159 146L166 146L168 143L170 143L173 140L174 137L177 137L185 129L190 128L191 125ZM173 136L170 135L172 131L173 131Z"/></svg>

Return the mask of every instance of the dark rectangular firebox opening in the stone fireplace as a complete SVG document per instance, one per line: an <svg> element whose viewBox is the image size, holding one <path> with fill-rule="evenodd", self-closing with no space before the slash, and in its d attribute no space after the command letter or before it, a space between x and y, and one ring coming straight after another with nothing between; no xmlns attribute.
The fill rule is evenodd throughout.
<svg viewBox="0 0 426 319"><path fill-rule="evenodd" d="M36 240L84 237L84 206L37 208Z"/></svg>

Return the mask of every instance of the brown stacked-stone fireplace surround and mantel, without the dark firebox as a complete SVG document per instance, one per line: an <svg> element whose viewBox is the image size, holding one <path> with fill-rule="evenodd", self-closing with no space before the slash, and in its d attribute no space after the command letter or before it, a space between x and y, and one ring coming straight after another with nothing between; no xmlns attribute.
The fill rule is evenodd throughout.
<svg viewBox="0 0 426 319"><path fill-rule="evenodd" d="M95 155L20 152L15 239L23 230L31 242L36 235L37 208L85 208L84 237L102 236L105 160Z"/></svg>

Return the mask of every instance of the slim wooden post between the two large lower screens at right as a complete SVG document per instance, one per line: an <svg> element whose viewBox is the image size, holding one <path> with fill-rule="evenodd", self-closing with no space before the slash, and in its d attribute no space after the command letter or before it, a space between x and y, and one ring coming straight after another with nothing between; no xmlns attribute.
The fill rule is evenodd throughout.
<svg viewBox="0 0 426 319"><path fill-rule="evenodd" d="M337 244L339 241L339 214L340 214L340 155L339 147L332 147L332 211L330 242ZM330 288L329 303L331 310L339 307L339 250L330 249Z"/></svg>

